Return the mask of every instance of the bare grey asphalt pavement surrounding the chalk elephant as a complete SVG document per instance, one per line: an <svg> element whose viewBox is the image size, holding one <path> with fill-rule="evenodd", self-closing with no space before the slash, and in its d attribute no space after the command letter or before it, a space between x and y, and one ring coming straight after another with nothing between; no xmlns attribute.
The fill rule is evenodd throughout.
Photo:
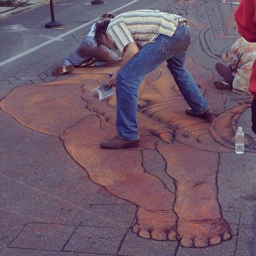
<svg viewBox="0 0 256 256"><path fill-rule="evenodd" d="M192 44L188 55L212 73L212 80L220 79L214 65L221 61L220 53L238 37L230 21L235 5L220 5L217 0L176 1L177 5L168 0L133 2L108 0L108 4L98 7L82 6L81 1L56 2L56 20L67 31L44 28L50 21L49 5L36 0L33 8L16 8L0 15L1 99L18 86L63 79L53 77L52 69L82 40L93 19L118 8L114 14L153 8L191 20ZM23 13L24 10L29 11ZM4 10L0 8L1 11ZM88 26L77 29L84 23ZM69 31L74 32L68 34ZM236 100L251 98L217 90L212 84L208 87L205 97L215 115L238 105ZM225 104L218 104L220 100ZM246 110L238 124L255 138L250 115L251 110ZM143 239L132 233L136 206L91 182L84 168L67 154L59 137L27 128L1 110L0 138L0 254L3 256L254 255L255 151L243 155L219 153L218 200L233 238L207 248L183 248L177 242ZM146 154L148 161L143 165L147 172L162 179L170 190L174 189L164 172L164 160L156 151L148 150Z"/></svg>

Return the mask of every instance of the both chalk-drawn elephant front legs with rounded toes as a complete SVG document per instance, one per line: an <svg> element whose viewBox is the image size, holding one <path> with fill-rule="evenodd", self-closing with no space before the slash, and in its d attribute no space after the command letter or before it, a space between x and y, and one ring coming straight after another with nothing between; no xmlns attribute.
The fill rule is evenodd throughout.
<svg viewBox="0 0 256 256"><path fill-rule="evenodd" d="M67 129L61 138L69 154L84 166L93 182L138 206L133 232L154 240L176 239L174 194L143 167L143 151L156 147L177 187L174 210L179 218L181 245L205 247L231 237L217 201L218 154L205 164L207 152L200 151L198 156L193 148L180 143L172 145L146 134L141 136L142 148L102 150L99 142L113 135L101 126L100 118L88 115Z"/></svg>

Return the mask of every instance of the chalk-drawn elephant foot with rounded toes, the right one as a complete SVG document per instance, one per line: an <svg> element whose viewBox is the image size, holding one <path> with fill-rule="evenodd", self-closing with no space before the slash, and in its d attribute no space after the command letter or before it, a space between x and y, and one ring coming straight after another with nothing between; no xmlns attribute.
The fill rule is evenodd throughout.
<svg viewBox="0 0 256 256"><path fill-rule="evenodd" d="M229 240L232 236L225 220L183 222L177 221L177 238L183 247L206 247Z"/></svg>

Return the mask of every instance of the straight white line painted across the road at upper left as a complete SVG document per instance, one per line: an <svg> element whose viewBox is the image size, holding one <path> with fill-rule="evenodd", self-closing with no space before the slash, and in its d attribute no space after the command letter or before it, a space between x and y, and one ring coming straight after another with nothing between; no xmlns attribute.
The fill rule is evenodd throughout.
<svg viewBox="0 0 256 256"><path fill-rule="evenodd" d="M123 6L119 7L119 8L116 8L115 10L112 10L112 11L110 11L109 13L115 13L115 12L117 12L118 10L121 10L121 9L123 9L123 8L125 8L125 7L127 7L127 6L129 6L129 5L132 5L133 3L138 2L138 1L139 1L139 0L133 0L131 3L127 3L126 5L123 5ZM26 55L30 54L31 52L33 52L33 51L36 51L36 50L38 50L38 49L40 49L40 48L42 48L42 47L44 47L44 46L46 46L46 45L48 45L48 44L51 44L52 42L57 41L57 40L59 40L60 38L62 38L62 37L64 37L64 36L68 36L69 34L72 34L72 33L74 33L75 31L77 31L77 30L79 30L79 29L81 29L81 28L84 28L84 27L86 27L87 25L90 25L90 24L94 23L94 22L97 21L99 18L100 18L100 17L98 17L98 18L96 18L96 19L94 19L94 20L91 20L91 21L89 21L89 22L87 22L87 23L84 23L83 25L81 25L81 26L79 26L79 27L77 27L77 28L73 28L72 30L70 30L70 31L68 31L68 32L66 32L66 33L64 33L64 34L62 34L62 35L60 35L60 36L54 37L54 38L52 38L52 39L50 39L50 40L48 40L48 41L46 41L46 42L44 42L44 43L42 43L42 44L38 44L38 46L35 46L35 47L33 47L33 48L31 48L31 49L29 49L29 50L27 50L27 51L23 51L22 53L17 54L17 55L15 55L15 56L11 57L10 59L6 59L5 61L0 62L0 67L3 67L5 64L8 64L8 63L10 63L10 62L12 62L12 61L15 61L15 60L17 60L17 59L20 59L21 57L26 56Z"/></svg>

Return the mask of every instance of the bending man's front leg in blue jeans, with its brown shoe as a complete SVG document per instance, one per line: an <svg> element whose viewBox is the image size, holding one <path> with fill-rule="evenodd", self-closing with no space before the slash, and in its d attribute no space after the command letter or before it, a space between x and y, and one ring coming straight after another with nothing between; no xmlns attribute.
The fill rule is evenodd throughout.
<svg viewBox="0 0 256 256"><path fill-rule="evenodd" d="M101 148L118 149L139 146L137 124L138 89L147 74L166 60L166 56L158 49L163 38L169 36L159 35L154 43L148 43L141 48L128 63L118 72L116 98L118 136L110 141L100 144ZM150 58L148 57L150 56Z"/></svg>

